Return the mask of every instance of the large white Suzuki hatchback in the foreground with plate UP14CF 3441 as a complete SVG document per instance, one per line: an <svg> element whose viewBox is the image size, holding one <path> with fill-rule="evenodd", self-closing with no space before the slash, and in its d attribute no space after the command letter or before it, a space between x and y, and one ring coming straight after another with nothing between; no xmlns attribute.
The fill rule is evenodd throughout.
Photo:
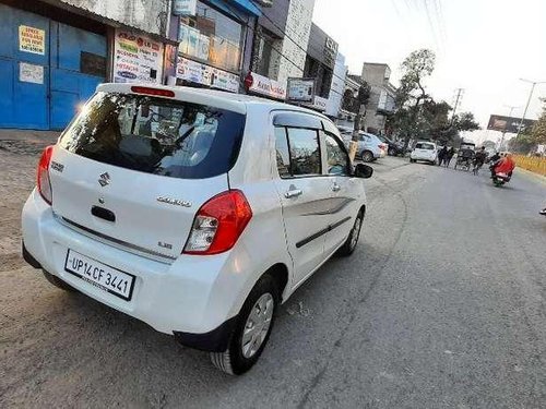
<svg viewBox="0 0 546 409"><path fill-rule="evenodd" d="M104 84L45 149L22 216L46 278L174 334L240 374L274 312L366 212L324 116L244 95Z"/></svg>

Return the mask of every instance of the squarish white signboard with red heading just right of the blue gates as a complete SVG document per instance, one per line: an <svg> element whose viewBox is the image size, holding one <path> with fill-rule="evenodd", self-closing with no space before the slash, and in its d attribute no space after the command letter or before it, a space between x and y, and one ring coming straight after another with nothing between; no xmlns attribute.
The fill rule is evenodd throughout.
<svg viewBox="0 0 546 409"><path fill-rule="evenodd" d="M164 45L146 36L117 29L114 44L114 82L163 82Z"/></svg>

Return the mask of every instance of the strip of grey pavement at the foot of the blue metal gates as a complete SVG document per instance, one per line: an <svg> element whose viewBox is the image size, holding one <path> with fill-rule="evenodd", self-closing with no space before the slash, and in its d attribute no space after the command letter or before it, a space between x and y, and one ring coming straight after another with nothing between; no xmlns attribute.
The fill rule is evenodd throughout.
<svg viewBox="0 0 546 409"><path fill-rule="evenodd" d="M60 132L0 129L0 151L20 155L37 155L57 142Z"/></svg>

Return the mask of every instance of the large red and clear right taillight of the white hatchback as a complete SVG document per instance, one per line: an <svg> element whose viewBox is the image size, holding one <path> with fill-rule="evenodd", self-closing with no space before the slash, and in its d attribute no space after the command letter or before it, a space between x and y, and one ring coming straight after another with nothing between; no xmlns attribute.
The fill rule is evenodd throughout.
<svg viewBox="0 0 546 409"><path fill-rule="evenodd" d="M183 248L186 254L218 254L232 249L252 218L241 191L232 190L201 206Z"/></svg>

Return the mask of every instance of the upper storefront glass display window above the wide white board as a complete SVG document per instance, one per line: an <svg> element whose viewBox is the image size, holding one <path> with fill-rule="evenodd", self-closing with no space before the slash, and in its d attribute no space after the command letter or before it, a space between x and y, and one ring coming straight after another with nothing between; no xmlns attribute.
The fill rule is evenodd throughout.
<svg viewBox="0 0 546 409"><path fill-rule="evenodd" d="M195 14L180 19L178 52L227 71L240 71L242 25L204 2L198 2Z"/></svg>

